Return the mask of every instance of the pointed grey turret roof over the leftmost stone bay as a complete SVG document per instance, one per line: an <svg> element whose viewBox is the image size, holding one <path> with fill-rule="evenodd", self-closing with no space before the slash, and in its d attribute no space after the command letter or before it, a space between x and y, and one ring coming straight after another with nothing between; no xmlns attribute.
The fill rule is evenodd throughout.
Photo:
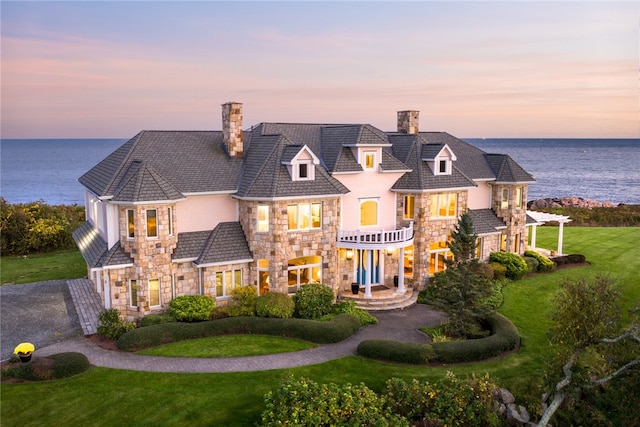
<svg viewBox="0 0 640 427"><path fill-rule="evenodd" d="M122 186L113 194L114 202L168 202L184 199L170 182L144 162L134 161L129 166Z"/></svg>

